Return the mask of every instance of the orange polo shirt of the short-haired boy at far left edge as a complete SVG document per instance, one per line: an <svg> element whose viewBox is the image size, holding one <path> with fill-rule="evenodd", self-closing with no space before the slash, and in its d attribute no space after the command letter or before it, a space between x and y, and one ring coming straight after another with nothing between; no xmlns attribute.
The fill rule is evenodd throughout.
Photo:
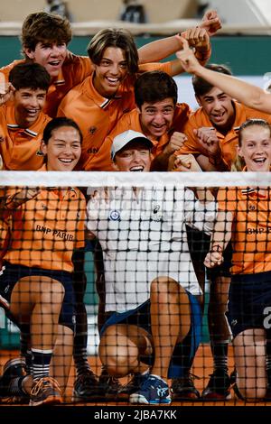
<svg viewBox="0 0 271 424"><path fill-rule="evenodd" d="M42 134L49 121L51 117L41 112L33 125L20 128L15 121L13 104L0 106L0 154L4 170L36 171L41 168Z"/></svg>

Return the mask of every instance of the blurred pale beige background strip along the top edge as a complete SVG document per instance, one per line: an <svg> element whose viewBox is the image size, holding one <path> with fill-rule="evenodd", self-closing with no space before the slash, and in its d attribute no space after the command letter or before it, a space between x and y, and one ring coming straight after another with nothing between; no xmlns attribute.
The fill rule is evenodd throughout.
<svg viewBox="0 0 271 424"><path fill-rule="evenodd" d="M206 9L215 8L225 25L223 32L265 32L270 30L269 5L269 0L9 0L1 2L0 18L2 23L20 23L26 14L43 9L66 14L75 29L78 23L85 23L89 33L95 22L102 26L105 21L119 20L146 23L150 32L161 33L182 25L178 21L197 19Z"/></svg>

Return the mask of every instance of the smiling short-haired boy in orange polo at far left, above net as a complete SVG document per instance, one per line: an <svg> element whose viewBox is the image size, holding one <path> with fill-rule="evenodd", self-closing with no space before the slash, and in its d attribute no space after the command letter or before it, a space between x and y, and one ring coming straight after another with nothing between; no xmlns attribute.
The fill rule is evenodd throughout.
<svg viewBox="0 0 271 424"><path fill-rule="evenodd" d="M25 62L14 66L9 80L8 94L1 96L0 106L0 154L4 170L36 171L43 162L40 150L43 129L51 120L42 112L50 76L38 63Z"/></svg>

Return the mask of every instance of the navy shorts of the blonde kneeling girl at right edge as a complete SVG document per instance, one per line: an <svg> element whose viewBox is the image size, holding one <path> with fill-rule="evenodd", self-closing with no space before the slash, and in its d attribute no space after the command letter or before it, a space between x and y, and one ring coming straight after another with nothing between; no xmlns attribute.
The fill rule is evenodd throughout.
<svg viewBox="0 0 271 424"><path fill-rule="evenodd" d="M264 328L269 333L271 272L232 275L228 309L227 317L234 337L248 328Z"/></svg>

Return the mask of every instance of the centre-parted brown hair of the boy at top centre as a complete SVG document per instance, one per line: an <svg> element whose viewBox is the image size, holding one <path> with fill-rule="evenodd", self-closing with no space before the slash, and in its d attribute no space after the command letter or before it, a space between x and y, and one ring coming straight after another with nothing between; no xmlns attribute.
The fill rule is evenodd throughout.
<svg viewBox="0 0 271 424"><path fill-rule="evenodd" d="M99 31L88 45L89 59L99 65L107 47L117 47L125 52L127 68L130 74L138 70L138 53L131 32L122 28L108 28Z"/></svg>

